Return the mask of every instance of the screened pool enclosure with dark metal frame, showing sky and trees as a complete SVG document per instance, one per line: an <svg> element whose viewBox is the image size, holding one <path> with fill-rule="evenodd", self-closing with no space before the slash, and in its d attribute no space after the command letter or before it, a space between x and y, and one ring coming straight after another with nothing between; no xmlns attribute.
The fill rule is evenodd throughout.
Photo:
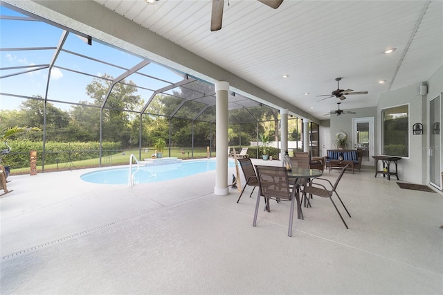
<svg viewBox="0 0 443 295"><path fill-rule="evenodd" d="M39 128L6 138L12 171L29 167L30 150L42 172L127 164L130 154L152 157L159 139L163 157L215 157L214 84L6 3L0 9L1 129ZM278 159L279 126L278 109L228 93L226 132L237 152L261 157L266 134ZM309 132L315 156L318 125ZM302 120L289 116L291 150L302 150L301 134Z"/></svg>

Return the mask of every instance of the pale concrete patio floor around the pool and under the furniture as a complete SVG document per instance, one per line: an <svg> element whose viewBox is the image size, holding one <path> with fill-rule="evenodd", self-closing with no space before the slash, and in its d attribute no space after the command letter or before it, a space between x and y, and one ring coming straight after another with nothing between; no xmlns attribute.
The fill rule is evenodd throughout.
<svg viewBox="0 0 443 295"><path fill-rule="evenodd" d="M127 188L84 182L88 171L10 177L1 294L442 294L442 193L373 168L338 186L350 229L314 197L291 238L289 202L260 208L254 228L256 192L214 195L215 172Z"/></svg>

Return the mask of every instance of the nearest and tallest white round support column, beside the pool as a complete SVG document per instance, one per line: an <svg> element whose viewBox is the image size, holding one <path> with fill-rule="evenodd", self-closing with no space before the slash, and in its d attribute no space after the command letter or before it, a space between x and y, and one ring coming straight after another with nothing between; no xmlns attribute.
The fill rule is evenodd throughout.
<svg viewBox="0 0 443 295"><path fill-rule="evenodd" d="M228 195L228 82L215 83L215 195Z"/></svg>

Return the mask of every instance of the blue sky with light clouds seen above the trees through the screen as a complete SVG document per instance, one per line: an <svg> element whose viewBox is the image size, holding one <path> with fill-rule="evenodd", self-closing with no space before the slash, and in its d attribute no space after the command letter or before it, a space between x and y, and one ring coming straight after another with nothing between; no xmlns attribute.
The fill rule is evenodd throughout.
<svg viewBox="0 0 443 295"><path fill-rule="evenodd" d="M3 6L0 6L0 14L2 16L26 17ZM0 92L15 96L44 97L46 95L46 84L48 83L48 67L38 71L24 72L30 69L38 69L38 67L33 66L47 66L51 62L62 33L62 29L45 24L42 21L0 19L0 48L2 49L0 51ZM21 50L6 50L11 48L21 48ZM48 87L49 100L92 102L91 98L87 96L86 87L87 84L92 82L94 75L101 76L107 73L116 78L142 61L140 57L100 44L94 39L92 46L89 46L73 33L69 33L63 49L87 55L94 60L88 60L62 51L57 57L55 66L65 69L57 67L52 69ZM67 71L66 69L87 73L87 75ZM145 66L140 72L168 82L183 80L180 75L154 63ZM20 74L12 75L17 73ZM8 75L11 76L8 77ZM145 101L153 93L152 90L147 89L159 89L169 84L143 75L131 75L127 80L132 80L138 86L146 88L139 88L136 93L141 95ZM18 109L20 103L26 99L15 96L0 94L0 109ZM64 103L53 103L53 105L64 110L70 108L70 105Z"/></svg>

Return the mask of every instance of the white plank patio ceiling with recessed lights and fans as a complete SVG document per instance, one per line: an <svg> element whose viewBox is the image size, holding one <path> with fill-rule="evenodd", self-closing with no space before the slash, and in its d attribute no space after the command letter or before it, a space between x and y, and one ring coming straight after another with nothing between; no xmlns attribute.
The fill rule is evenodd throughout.
<svg viewBox="0 0 443 295"><path fill-rule="evenodd" d="M225 0L216 32L210 0L95 1L319 119L340 101L316 97L337 89L335 78L341 89L369 91L347 96L342 109L374 107L380 93L426 81L443 65L440 0L284 0L277 10Z"/></svg>

